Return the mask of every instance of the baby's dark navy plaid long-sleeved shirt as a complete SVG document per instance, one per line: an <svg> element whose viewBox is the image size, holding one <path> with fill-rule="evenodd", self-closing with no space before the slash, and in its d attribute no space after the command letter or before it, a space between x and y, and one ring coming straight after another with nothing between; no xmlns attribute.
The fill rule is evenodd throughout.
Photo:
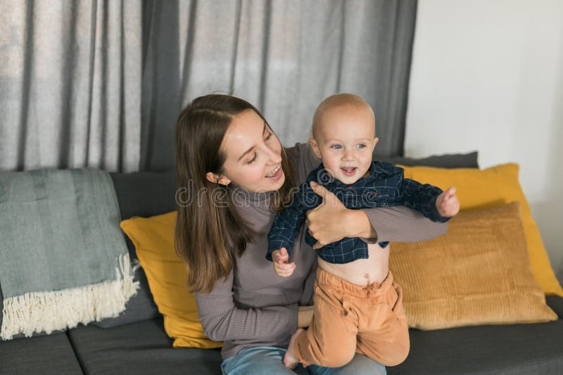
<svg viewBox="0 0 563 375"><path fill-rule="evenodd" d="M310 172L307 182L299 186L293 196L291 205L276 215L270 233L268 233L268 251L266 258L272 260L272 251L286 248L291 256L293 243L303 224L308 210L312 210L322 203L322 198L312 191L310 182L315 181L323 185L340 199L346 208L358 210L360 208L388 207L405 205L412 208L434 222L447 222L449 217L443 217L436 210L436 198L442 190L430 184L420 184L412 179L403 177L404 170L391 163L372 162L369 175L358 179L354 184L343 184L330 176L322 163ZM315 240L305 231L305 241L313 246ZM388 241L379 242L386 247ZM330 263L348 263L368 257L367 243L358 237L345 237L340 241L329 243L317 249L322 260Z"/></svg>

